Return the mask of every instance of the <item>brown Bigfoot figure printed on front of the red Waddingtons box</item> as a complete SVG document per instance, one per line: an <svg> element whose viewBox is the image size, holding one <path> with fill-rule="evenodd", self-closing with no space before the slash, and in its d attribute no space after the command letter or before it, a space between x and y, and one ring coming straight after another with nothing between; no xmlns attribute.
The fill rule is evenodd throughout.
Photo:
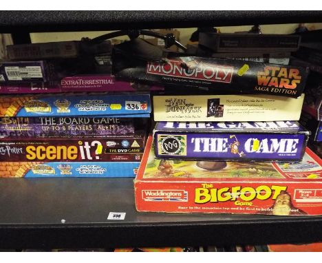
<svg viewBox="0 0 322 263"><path fill-rule="evenodd" d="M266 215L306 215L304 211L293 207L291 196L288 192L282 191L276 198L275 203L270 207Z"/></svg>

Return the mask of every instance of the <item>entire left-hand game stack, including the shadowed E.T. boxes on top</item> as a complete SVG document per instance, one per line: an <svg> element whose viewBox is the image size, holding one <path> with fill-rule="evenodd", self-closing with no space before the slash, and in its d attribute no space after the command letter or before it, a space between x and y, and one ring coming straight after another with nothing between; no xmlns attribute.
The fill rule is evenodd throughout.
<svg viewBox="0 0 322 263"><path fill-rule="evenodd" d="M0 176L135 176L149 92L162 88L116 81L111 48L110 41L87 40L7 47L10 61L0 65Z"/></svg>

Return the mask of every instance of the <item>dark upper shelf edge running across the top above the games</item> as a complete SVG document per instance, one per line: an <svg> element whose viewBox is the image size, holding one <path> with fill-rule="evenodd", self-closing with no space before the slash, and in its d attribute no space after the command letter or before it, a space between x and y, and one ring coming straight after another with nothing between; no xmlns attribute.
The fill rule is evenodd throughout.
<svg viewBox="0 0 322 263"><path fill-rule="evenodd" d="M322 11L0 11L2 33L310 22Z"/></svg>

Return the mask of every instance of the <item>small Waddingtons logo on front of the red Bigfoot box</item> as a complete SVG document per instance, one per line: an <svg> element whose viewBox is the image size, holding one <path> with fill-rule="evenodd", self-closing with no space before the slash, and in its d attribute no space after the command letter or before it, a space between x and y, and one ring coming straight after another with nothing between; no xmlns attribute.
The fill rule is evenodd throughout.
<svg viewBox="0 0 322 263"><path fill-rule="evenodd" d="M188 192L184 190L142 190L144 201L187 202Z"/></svg>

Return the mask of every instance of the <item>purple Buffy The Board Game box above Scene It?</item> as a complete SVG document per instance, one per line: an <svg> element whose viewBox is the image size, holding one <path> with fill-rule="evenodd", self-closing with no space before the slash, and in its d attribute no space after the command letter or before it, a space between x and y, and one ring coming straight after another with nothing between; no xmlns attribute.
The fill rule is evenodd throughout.
<svg viewBox="0 0 322 263"><path fill-rule="evenodd" d="M148 118L111 117L3 117L0 138L104 138L134 134L147 125Z"/></svg>

